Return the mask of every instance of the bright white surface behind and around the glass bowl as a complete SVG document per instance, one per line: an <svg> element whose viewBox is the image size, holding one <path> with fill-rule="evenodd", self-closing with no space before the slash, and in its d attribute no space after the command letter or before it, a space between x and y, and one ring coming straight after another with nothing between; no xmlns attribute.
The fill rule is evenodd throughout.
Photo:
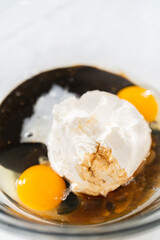
<svg viewBox="0 0 160 240"><path fill-rule="evenodd" d="M160 91L160 1L0 0L0 101L24 79L72 64ZM159 236L157 228L131 239ZM22 238L0 229L0 239Z"/></svg>

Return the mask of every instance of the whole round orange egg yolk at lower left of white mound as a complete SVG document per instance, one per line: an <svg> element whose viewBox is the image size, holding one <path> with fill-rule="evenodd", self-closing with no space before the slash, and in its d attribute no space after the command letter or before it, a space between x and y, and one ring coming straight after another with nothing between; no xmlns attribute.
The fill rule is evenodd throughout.
<svg viewBox="0 0 160 240"><path fill-rule="evenodd" d="M57 207L66 188L65 181L49 166L35 165L18 179L17 193L28 207L45 211Z"/></svg>

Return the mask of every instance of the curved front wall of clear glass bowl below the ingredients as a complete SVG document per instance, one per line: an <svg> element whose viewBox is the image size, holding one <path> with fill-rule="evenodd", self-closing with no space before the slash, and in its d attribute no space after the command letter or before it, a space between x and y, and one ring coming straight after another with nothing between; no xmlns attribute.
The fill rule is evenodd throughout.
<svg viewBox="0 0 160 240"><path fill-rule="evenodd" d="M22 219L16 214L9 214L7 206L0 203L0 227L9 229L18 234L26 234L48 237L70 237L76 239L82 238L116 238L120 236L129 236L138 232L146 231L160 226L160 199L154 203L153 209L149 206L141 214L132 216L119 222L97 224L97 225L49 225L46 223L37 223Z"/></svg>

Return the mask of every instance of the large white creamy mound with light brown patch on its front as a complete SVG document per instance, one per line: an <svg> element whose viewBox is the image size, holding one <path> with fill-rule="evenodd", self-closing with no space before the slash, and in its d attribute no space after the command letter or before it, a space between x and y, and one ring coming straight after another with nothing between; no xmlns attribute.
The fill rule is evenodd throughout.
<svg viewBox="0 0 160 240"><path fill-rule="evenodd" d="M116 95L70 97L54 106L53 115L49 161L75 193L106 196L127 183L149 154L148 123Z"/></svg>

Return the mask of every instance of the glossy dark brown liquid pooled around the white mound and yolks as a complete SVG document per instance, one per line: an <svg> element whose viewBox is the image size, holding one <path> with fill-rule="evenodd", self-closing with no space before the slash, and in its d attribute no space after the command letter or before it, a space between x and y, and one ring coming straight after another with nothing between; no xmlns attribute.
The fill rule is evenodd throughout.
<svg viewBox="0 0 160 240"><path fill-rule="evenodd" d="M88 90L116 94L133 85L122 76L96 68L78 66L41 73L11 92L0 106L0 188L19 206L26 209L16 193L15 182L28 167L47 161L47 149L42 143L20 143L23 121L33 113L37 99L56 84L81 95ZM160 132L152 131L152 149L145 164L126 186L110 192L106 198L73 193L58 208L31 211L49 222L96 224L118 219L145 203L160 186Z"/></svg>

